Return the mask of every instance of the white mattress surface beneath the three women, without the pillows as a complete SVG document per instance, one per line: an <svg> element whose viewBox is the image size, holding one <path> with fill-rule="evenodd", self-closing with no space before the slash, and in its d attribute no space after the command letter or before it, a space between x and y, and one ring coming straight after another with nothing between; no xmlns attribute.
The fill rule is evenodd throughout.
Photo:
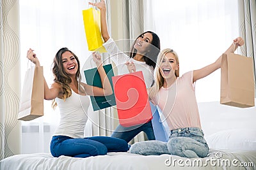
<svg viewBox="0 0 256 170"><path fill-rule="evenodd" d="M217 154L217 155L216 155ZM217 157L221 157L217 159ZM202 162L201 162L202 161ZM221 162L222 161L222 162ZM172 162L172 164L170 164ZM194 163L193 163L194 162ZM198 166L198 164L199 166ZM230 162L230 166L228 165ZM241 167L242 164L251 167ZM193 164L196 164L195 166ZM237 165L237 167L236 167ZM254 167L252 167L252 165ZM132 153L108 153L97 157L52 157L50 153L13 155L0 161L1 170L49 170L49 169L256 169L255 151L210 150L204 159L188 159L175 155L136 155Z"/></svg>

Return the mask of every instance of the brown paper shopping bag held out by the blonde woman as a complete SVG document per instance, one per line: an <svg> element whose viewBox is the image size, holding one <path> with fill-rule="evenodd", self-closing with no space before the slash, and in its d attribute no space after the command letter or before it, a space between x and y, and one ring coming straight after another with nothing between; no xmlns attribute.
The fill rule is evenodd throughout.
<svg viewBox="0 0 256 170"><path fill-rule="evenodd" d="M253 58L223 53L221 60L220 103L239 108L255 105Z"/></svg>

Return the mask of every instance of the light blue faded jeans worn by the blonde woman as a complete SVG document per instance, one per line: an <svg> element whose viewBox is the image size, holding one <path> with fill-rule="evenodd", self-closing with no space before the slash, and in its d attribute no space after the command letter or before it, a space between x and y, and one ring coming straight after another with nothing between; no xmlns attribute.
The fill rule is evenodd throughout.
<svg viewBox="0 0 256 170"><path fill-rule="evenodd" d="M171 154L180 157L206 157L209 148L204 132L197 127L180 128L170 131L168 143L162 141L143 141L134 143L131 153L141 155Z"/></svg>

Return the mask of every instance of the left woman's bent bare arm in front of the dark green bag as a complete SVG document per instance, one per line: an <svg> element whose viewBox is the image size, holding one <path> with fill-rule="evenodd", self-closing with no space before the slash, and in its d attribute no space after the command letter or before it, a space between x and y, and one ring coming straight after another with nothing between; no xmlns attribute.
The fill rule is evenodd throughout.
<svg viewBox="0 0 256 170"><path fill-rule="evenodd" d="M92 85L83 84L86 94L89 96L109 96L109 95L113 94L110 81L109 81L108 76L102 66L101 56L97 53L93 53L93 60L96 63L99 74L100 74L102 88L95 87Z"/></svg>

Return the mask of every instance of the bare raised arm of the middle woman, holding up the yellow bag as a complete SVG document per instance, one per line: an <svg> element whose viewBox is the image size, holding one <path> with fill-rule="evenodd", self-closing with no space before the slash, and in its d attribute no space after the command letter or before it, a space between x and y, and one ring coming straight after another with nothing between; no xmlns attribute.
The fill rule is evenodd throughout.
<svg viewBox="0 0 256 170"><path fill-rule="evenodd" d="M106 3L104 0L100 1L100 3L90 3L89 4L96 6L100 10L100 25L101 25L101 35L104 41L108 41L109 33L108 33L108 25L106 20Z"/></svg>

